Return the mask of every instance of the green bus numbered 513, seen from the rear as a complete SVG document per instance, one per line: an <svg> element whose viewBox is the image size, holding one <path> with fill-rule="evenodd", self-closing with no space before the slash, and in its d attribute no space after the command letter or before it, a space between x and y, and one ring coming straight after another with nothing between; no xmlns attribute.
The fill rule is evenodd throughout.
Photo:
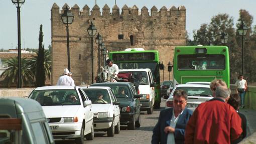
<svg viewBox="0 0 256 144"><path fill-rule="evenodd" d="M178 46L173 57L173 83L210 82L222 79L229 87L226 46Z"/></svg>

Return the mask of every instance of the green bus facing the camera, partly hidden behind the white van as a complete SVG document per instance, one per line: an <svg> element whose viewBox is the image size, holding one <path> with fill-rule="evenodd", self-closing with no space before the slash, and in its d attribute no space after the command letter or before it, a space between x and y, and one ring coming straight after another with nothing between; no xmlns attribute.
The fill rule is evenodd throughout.
<svg viewBox="0 0 256 144"><path fill-rule="evenodd" d="M125 51L109 52L108 55L119 69L149 68L151 70L154 82L156 82L154 107L160 108L160 69L163 69L163 64L159 61L158 51L133 48L125 49Z"/></svg>

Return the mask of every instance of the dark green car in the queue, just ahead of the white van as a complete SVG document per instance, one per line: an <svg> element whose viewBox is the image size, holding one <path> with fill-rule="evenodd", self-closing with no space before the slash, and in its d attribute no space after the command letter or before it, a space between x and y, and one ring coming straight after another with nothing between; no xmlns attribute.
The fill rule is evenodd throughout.
<svg viewBox="0 0 256 144"><path fill-rule="evenodd" d="M135 129L141 126L141 104L133 83L113 82L94 83L90 86L108 86L112 89L116 99L120 101L120 124L128 126L128 129Z"/></svg>

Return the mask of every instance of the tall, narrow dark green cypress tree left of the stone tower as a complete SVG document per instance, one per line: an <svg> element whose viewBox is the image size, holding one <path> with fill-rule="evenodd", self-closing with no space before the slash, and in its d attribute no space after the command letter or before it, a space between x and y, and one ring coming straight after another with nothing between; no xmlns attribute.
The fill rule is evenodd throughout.
<svg viewBox="0 0 256 144"><path fill-rule="evenodd" d="M44 71L44 46L43 46L43 26L40 26L39 32L39 48L36 64L36 87L45 86L45 71Z"/></svg>

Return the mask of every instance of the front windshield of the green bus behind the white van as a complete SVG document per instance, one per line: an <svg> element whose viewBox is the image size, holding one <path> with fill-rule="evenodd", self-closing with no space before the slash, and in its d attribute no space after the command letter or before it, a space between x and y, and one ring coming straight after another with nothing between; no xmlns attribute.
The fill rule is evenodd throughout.
<svg viewBox="0 0 256 144"><path fill-rule="evenodd" d="M119 69L145 69L149 68L153 73L153 79L155 82L160 81L159 66L156 62L142 62L142 63L115 63Z"/></svg>

